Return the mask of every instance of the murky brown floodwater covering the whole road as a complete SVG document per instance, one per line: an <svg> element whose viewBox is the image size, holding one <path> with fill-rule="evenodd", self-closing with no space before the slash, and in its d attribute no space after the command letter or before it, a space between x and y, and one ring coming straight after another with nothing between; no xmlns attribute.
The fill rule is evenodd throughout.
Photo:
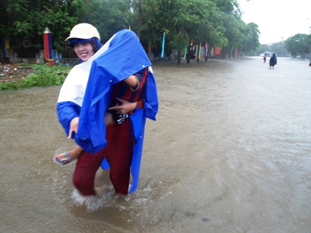
<svg viewBox="0 0 311 233"><path fill-rule="evenodd" d="M137 191L81 198L58 87L0 92L0 232L311 232L311 67L278 58L155 64Z"/></svg>

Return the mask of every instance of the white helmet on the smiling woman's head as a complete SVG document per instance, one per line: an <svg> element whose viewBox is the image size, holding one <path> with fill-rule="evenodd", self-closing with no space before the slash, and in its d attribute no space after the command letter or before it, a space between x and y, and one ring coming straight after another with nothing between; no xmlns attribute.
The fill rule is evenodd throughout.
<svg viewBox="0 0 311 233"><path fill-rule="evenodd" d="M78 39L90 39L92 37L96 37L101 40L101 36L99 35L99 31L92 26L91 24L77 24L72 28L69 37L65 41L68 41L72 38Z"/></svg>

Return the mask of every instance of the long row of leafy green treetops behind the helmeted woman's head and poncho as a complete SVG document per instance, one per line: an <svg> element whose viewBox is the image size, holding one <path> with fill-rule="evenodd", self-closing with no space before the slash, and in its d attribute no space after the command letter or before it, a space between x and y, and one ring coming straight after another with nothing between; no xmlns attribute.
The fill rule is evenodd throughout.
<svg viewBox="0 0 311 233"><path fill-rule="evenodd" d="M86 22L99 30L103 43L131 26L155 56L163 33L165 55L185 48L190 54L194 44L208 42L209 50L218 46L226 58L235 49L242 55L260 45L257 24L242 21L236 0L0 0L0 6L1 34L19 43L49 28L53 46L63 46L71 28Z"/></svg>

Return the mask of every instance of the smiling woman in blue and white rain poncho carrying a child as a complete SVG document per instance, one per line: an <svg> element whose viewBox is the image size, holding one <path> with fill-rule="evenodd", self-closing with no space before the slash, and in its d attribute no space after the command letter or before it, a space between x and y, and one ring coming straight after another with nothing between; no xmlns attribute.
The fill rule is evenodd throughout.
<svg viewBox="0 0 311 233"><path fill-rule="evenodd" d="M70 71L60 89L57 110L65 132L78 146L56 155L54 161L67 164L77 159L73 181L83 196L96 194L94 178L99 167L105 166L103 159L110 167L116 193L128 194L133 143L137 141L129 116L136 111L138 102L146 98L145 86L151 70L133 34L120 31L101 47L96 28L78 24L66 39L83 63ZM136 47L138 51L134 52ZM118 53L124 55L116 60ZM153 111L147 116L151 119L155 119L158 110L155 85L153 92Z"/></svg>

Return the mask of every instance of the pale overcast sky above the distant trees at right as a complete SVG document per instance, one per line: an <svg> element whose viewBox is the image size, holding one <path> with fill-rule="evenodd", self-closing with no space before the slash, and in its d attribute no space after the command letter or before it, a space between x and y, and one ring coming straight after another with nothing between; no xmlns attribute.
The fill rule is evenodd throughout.
<svg viewBox="0 0 311 233"><path fill-rule="evenodd" d="M237 0L246 24L254 22L260 44L280 42L297 33L310 34L311 0Z"/></svg>

